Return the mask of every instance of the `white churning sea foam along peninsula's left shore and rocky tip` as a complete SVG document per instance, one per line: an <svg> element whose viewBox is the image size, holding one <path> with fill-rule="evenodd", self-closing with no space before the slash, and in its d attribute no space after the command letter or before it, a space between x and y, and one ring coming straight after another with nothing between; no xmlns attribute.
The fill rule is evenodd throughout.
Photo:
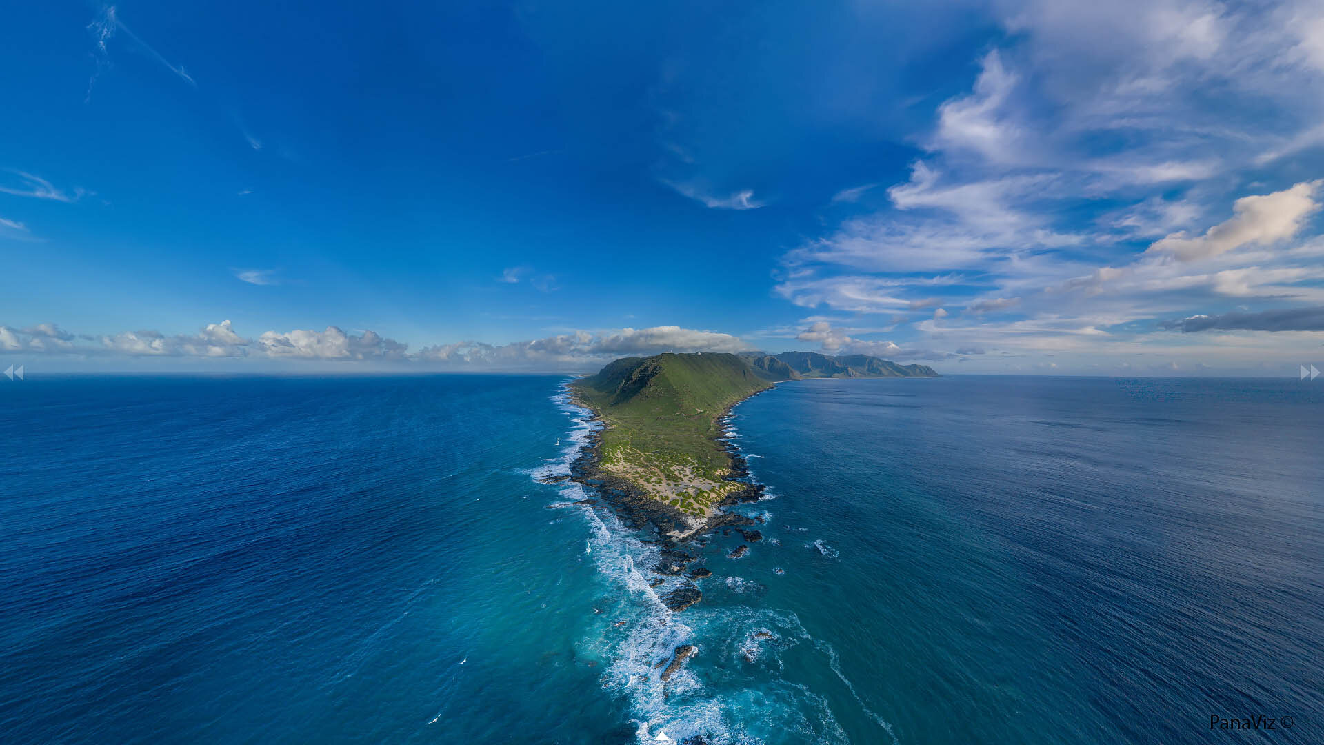
<svg viewBox="0 0 1324 745"><path fill-rule="evenodd" d="M560 453L531 472L535 480L569 476L571 465L593 431L600 428L591 420L589 412L571 403L564 391L552 400L571 418L572 428L561 436L565 447ZM727 427L727 435L739 437L733 427ZM592 562L608 586L604 595L613 598L601 604L604 620L594 623L581 643L610 660L601 677L602 688L628 703L638 742L659 742L662 732L670 742L702 736L712 745L755 745L761 742L759 732L777 740L792 733L804 741L847 742L826 700L780 679L782 661L776 647L785 644L785 639L794 643L797 638L808 638L793 614L703 603L683 614L671 612L659 594L685 581L666 578L658 587L649 585L650 575L643 571L661 558L658 547L643 544L610 513L573 505L592 496L580 484L561 481L556 484L555 493L555 506L581 508L567 510L567 517L583 517L588 529L584 554L589 557L584 561ZM767 512L761 514L765 520L771 517ZM739 577L727 578L726 587L737 594L763 589L757 582ZM757 660L761 671L773 676L772 680L759 688L730 689L730 684L723 684L723 689L718 691L714 689L718 684L706 683L704 676L695 672L708 658L737 654L732 650L749 643L753 630L776 634L777 644L760 640L764 643L751 650L752 659ZM732 635L737 635L739 642ZM662 683L662 667L682 644L699 646L699 654Z"/></svg>

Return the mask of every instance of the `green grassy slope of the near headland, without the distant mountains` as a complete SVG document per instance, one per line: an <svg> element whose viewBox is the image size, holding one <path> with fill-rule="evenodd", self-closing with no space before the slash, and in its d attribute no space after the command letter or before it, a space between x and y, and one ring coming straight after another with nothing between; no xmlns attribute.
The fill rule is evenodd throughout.
<svg viewBox="0 0 1324 745"><path fill-rule="evenodd" d="M740 488L723 480L731 461L716 419L769 379L781 378L733 354L659 354L617 359L571 387L608 424L605 473L702 516Z"/></svg>

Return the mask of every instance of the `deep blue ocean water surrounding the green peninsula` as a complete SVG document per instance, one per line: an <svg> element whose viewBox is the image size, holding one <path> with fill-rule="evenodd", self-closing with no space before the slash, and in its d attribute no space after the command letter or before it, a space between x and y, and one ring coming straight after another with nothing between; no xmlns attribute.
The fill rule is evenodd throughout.
<svg viewBox="0 0 1324 745"><path fill-rule="evenodd" d="M671 614L563 383L4 386L0 740L1324 742L1324 386L780 384Z"/></svg>

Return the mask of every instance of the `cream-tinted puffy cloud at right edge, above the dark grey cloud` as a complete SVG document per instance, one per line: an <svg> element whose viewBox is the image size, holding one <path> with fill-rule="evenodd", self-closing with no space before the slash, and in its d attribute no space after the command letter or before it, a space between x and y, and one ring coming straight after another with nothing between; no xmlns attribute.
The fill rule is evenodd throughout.
<svg viewBox="0 0 1324 745"><path fill-rule="evenodd" d="M1197 261L1249 244L1267 245L1286 240L1301 229L1307 216L1319 209L1315 192L1320 182L1299 183L1274 194L1243 196L1233 204L1234 216L1201 236L1173 233L1149 247L1178 261Z"/></svg>

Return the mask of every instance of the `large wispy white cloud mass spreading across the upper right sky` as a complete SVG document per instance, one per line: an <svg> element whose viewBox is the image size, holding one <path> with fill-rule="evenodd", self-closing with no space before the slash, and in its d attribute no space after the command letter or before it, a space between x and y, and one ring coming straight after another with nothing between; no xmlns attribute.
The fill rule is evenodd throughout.
<svg viewBox="0 0 1324 745"><path fill-rule="evenodd" d="M993 8L1008 34L970 89L911 137L925 152L910 178L887 190L886 208L786 252L780 296L894 315L948 281L943 304L964 313L907 333L936 350L993 350L980 365L1160 349L1176 359L1189 350L1152 338L1157 319L1227 302L1324 304L1324 239L1308 232L1319 182L1266 168L1319 170L1324 37L1312 29L1324 5ZM1288 170L1284 155L1298 154ZM1230 359L1287 342L1200 343Z"/></svg>

